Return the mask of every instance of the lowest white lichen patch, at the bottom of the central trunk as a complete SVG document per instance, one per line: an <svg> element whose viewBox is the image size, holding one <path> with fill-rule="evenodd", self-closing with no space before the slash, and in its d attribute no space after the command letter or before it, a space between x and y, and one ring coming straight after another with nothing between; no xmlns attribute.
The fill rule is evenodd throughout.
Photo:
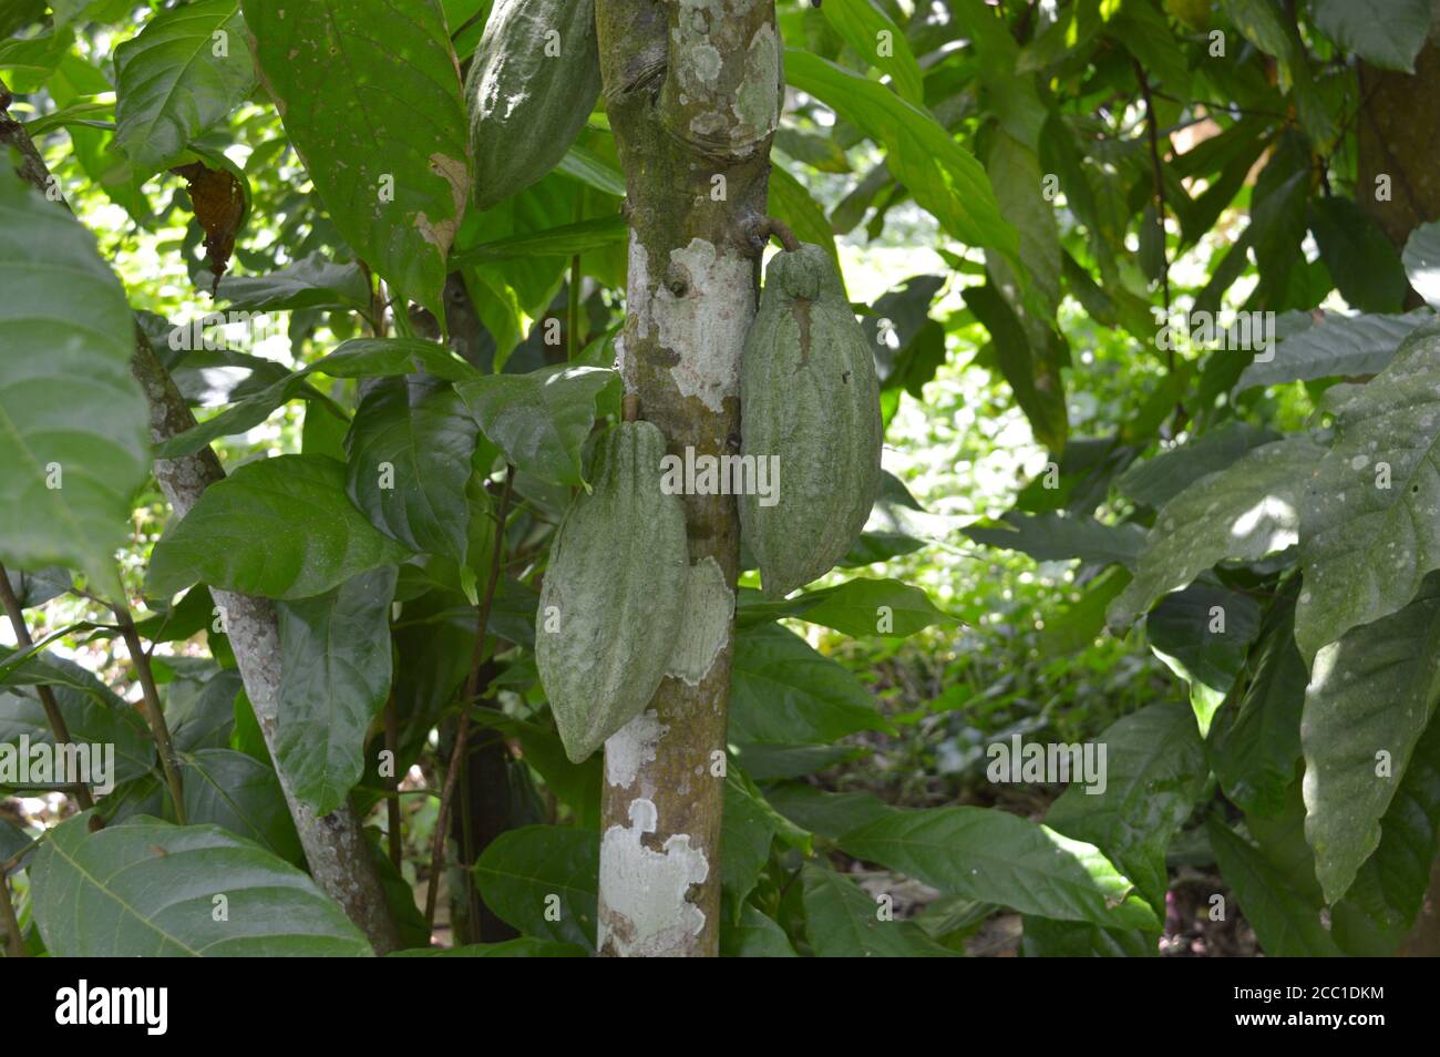
<svg viewBox="0 0 1440 1057"><path fill-rule="evenodd" d="M631 801L629 821L600 840L600 949L622 958L684 953L706 926L704 912L685 897L710 864L688 834L670 837L661 851L641 842L658 824L651 801Z"/></svg>

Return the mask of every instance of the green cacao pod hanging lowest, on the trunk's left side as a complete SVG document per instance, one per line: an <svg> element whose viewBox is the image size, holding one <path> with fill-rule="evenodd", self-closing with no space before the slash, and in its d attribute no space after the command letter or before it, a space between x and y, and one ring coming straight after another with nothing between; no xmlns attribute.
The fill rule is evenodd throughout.
<svg viewBox="0 0 1440 1057"><path fill-rule="evenodd" d="M661 490L665 438L621 422L599 438L593 491L550 544L536 664L564 752L579 763L655 696L685 608L685 510Z"/></svg>

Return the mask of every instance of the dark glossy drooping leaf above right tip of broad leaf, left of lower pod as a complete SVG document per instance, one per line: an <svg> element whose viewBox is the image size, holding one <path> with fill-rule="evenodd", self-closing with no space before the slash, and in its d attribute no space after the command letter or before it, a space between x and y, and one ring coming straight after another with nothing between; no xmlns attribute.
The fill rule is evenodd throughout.
<svg viewBox="0 0 1440 1057"><path fill-rule="evenodd" d="M480 432L448 382L382 379L356 409L346 487L370 523L410 550L465 560L465 482Z"/></svg>

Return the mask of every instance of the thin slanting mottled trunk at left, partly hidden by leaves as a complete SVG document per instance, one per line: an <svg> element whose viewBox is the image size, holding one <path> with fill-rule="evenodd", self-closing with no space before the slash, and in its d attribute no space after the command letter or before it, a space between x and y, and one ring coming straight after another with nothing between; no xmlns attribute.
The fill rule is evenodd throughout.
<svg viewBox="0 0 1440 1057"><path fill-rule="evenodd" d="M6 109L10 92L0 84L0 150L14 147L20 156L22 177L45 192L50 186L50 173L35 148L24 127L13 121ZM135 356L131 373L144 390L150 406L150 436L156 442L167 441L194 425L194 415L186 405L168 372L156 359L154 350L135 327ZM154 475L166 494L176 517L196 504L209 485L225 477L220 461L210 448L180 459L156 459ZM212 590L215 603L226 613L230 647L240 667L245 693L255 709L265 745L275 755L276 690L279 687L279 631L275 611L265 599ZM295 798L291 783L276 766L281 789L289 804L300 841L310 863L315 883L350 916L374 946L376 953L387 953L400 946L400 936L384 901L380 874L376 868L370 845L360 828L360 819L346 805L338 811L317 818L308 806Z"/></svg>

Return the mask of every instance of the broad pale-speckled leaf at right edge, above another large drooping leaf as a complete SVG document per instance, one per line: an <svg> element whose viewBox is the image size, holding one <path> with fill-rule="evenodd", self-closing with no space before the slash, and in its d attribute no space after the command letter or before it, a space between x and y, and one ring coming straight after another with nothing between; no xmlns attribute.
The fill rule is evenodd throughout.
<svg viewBox="0 0 1440 1057"><path fill-rule="evenodd" d="M1306 661L1404 606L1440 569L1440 324L1405 338L1333 413L1335 442L1300 508L1295 639Z"/></svg>

